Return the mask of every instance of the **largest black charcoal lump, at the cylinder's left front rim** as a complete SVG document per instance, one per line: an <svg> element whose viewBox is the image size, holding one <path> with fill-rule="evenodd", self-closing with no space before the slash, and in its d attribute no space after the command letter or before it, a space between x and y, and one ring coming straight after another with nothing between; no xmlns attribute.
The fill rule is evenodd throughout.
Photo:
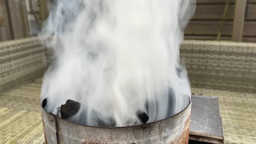
<svg viewBox="0 0 256 144"><path fill-rule="evenodd" d="M66 119L75 115L80 109L80 105L81 104L79 102L67 100L66 104L62 104L60 107L61 118Z"/></svg>

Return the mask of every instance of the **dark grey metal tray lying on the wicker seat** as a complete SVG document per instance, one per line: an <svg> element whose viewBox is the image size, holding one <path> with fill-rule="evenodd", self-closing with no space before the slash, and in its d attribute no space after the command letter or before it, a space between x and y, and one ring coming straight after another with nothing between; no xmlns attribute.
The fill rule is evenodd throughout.
<svg viewBox="0 0 256 144"><path fill-rule="evenodd" d="M189 139L224 144L223 126L217 97L192 95Z"/></svg>

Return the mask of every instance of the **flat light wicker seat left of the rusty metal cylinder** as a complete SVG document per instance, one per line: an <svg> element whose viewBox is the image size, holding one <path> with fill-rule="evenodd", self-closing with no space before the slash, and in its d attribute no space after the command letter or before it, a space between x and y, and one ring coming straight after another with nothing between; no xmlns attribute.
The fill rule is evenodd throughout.
<svg viewBox="0 0 256 144"><path fill-rule="evenodd" d="M41 79L0 94L0 144L43 144Z"/></svg>

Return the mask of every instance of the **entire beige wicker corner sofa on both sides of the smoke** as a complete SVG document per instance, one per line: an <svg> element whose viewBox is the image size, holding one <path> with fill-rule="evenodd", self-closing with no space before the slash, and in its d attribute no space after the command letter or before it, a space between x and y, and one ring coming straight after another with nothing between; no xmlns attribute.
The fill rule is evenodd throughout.
<svg viewBox="0 0 256 144"><path fill-rule="evenodd" d="M226 143L256 143L256 44L185 41L180 51L192 93L218 96ZM39 95L51 54L37 38L0 43L1 144L44 143Z"/></svg>

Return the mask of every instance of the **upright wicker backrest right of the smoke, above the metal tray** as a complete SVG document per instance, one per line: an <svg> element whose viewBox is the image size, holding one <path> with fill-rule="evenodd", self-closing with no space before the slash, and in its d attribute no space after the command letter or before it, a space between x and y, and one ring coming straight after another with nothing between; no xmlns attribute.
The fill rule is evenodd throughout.
<svg viewBox="0 0 256 144"><path fill-rule="evenodd" d="M192 87L256 93L256 43L185 41Z"/></svg>

